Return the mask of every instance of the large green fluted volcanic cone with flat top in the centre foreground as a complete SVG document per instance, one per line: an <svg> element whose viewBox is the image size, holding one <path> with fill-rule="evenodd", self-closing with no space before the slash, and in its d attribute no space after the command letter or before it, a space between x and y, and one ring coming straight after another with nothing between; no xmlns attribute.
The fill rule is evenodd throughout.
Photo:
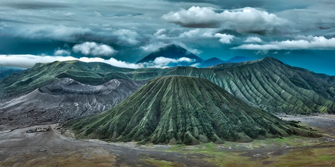
<svg viewBox="0 0 335 167"><path fill-rule="evenodd" d="M247 142L300 133L213 82L189 76L155 78L114 108L66 126L79 137L170 144Z"/></svg>

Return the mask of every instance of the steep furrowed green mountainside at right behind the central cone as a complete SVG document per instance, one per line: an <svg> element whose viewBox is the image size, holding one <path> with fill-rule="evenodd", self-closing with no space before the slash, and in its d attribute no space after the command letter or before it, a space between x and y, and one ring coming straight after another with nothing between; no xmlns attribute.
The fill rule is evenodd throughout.
<svg viewBox="0 0 335 167"><path fill-rule="evenodd" d="M270 57L220 69L232 77L221 74L211 80L263 109L286 113L335 112L332 92L335 86L308 70L299 70ZM225 78L219 79L220 76Z"/></svg>

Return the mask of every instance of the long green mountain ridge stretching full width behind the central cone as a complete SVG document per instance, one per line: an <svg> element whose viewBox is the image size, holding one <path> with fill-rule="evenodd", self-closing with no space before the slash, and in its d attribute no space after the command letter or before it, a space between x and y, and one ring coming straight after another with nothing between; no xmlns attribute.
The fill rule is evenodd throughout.
<svg viewBox="0 0 335 167"><path fill-rule="evenodd" d="M141 80L166 75L207 78L248 104L268 111L335 113L335 76L285 65L270 57L211 68L128 69L80 61L37 64L0 80L0 96L26 93L63 77L101 85L113 78Z"/></svg>

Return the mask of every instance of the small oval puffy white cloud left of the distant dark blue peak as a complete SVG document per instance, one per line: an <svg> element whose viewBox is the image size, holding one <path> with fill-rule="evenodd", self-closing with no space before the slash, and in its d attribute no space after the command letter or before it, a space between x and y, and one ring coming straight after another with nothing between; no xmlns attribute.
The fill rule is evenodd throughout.
<svg viewBox="0 0 335 167"><path fill-rule="evenodd" d="M81 53L83 55L93 55L93 56L110 56L116 51L105 44L97 44L94 42L85 42L83 44L75 45L72 50L76 53Z"/></svg>

